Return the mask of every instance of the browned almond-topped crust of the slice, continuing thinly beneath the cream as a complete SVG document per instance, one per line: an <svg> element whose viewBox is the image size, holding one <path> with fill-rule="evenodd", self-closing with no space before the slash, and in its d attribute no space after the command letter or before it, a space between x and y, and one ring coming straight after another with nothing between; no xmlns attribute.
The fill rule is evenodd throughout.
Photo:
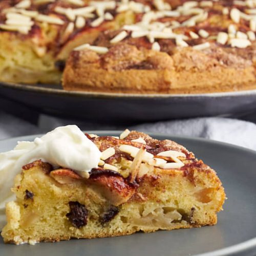
<svg viewBox="0 0 256 256"><path fill-rule="evenodd" d="M50 164L44 163L39 159L33 163L23 166L24 170L34 166L40 166L45 173L51 173L60 183L66 183L74 179L93 179L99 174L123 177L127 181L139 182L145 175L157 175L157 170L168 172L176 170L187 176L190 170L198 168L202 172L212 172L207 165L198 160L193 153L172 140L157 140L147 134L125 130L120 137L97 136L86 134L93 141L101 152L100 161L97 168L93 168L89 175L77 172L75 169L59 167L54 169ZM143 170L139 171L141 164ZM136 172L136 174L134 174ZM97 175L96 175L97 174ZM61 176L65 177L62 181ZM67 180L66 180L67 178Z"/></svg>

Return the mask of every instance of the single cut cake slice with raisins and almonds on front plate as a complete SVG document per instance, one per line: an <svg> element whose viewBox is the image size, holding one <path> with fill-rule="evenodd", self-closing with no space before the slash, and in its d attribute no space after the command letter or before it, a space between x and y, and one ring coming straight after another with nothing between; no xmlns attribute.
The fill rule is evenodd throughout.
<svg viewBox="0 0 256 256"><path fill-rule="evenodd" d="M140 132L84 135L101 152L87 175L36 160L7 203L6 243L100 238L215 225L225 200L216 172L185 147Z"/></svg>

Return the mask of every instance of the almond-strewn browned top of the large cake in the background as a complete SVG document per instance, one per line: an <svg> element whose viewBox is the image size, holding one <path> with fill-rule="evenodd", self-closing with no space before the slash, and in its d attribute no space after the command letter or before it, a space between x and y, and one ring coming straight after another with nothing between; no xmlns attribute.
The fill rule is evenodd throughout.
<svg viewBox="0 0 256 256"><path fill-rule="evenodd" d="M102 26L110 21L116 22L119 28L122 21L116 20L117 15L130 12L134 24L124 24L120 30L99 38L97 46L102 48L90 45L77 48L98 53L105 53L107 48L123 40L165 52L187 46L203 50L211 44L246 48L255 40L256 31L255 0L4 0L0 10L1 30L33 34L36 29L45 31L50 25L57 31L58 46L82 31L106 30Z"/></svg>

